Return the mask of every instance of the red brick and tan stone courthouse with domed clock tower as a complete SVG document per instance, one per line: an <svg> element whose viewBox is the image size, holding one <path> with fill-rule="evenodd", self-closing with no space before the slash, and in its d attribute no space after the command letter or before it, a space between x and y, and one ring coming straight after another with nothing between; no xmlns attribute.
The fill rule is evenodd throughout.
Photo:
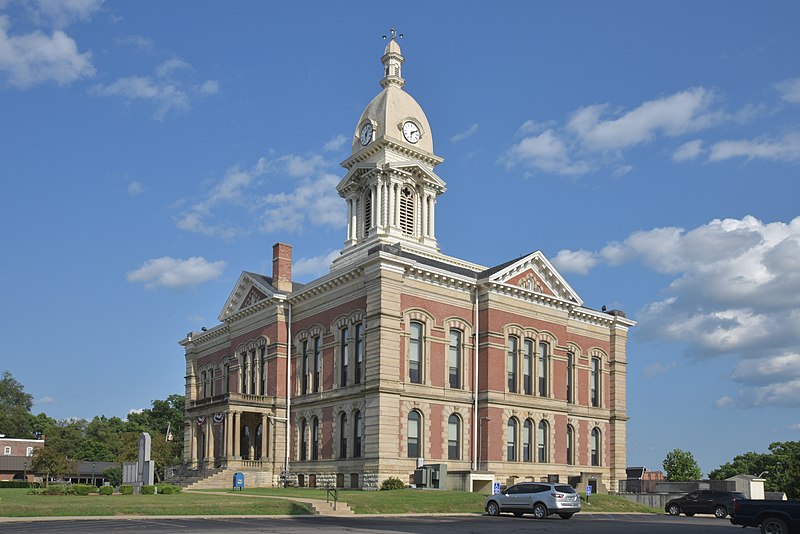
<svg viewBox="0 0 800 534"><path fill-rule="evenodd" d="M219 324L181 341L187 467L225 484L371 489L439 464L464 489L616 487L634 322L585 307L539 251L493 267L441 252L443 160L394 39L381 61L342 162L330 272L293 282L278 243L272 273L242 272Z"/></svg>

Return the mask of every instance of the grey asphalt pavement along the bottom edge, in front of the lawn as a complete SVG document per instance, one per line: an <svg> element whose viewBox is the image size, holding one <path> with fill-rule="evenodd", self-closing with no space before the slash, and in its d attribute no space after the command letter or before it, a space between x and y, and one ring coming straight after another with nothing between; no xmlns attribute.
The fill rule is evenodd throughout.
<svg viewBox="0 0 800 534"><path fill-rule="evenodd" d="M197 533L414 533L502 534L542 532L552 534L733 534L740 527L727 519L714 517L670 517L656 515L580 513L570 520L536 520L512 516L394 516L394 517L323 517L295 516L280 518L186 518L186 519L81 519L61 521L0 522L0 533L70 533L83 532L186 532ZM748 529L747 534L757 534Z"/></svg>

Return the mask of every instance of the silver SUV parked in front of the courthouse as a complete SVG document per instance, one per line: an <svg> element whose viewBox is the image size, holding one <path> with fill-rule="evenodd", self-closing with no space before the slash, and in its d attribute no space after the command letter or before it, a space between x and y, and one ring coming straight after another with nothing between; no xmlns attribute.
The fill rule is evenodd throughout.
<svg viewBox="0 0 800 534"><path fill-rule="evenodd" d="M550 514L558 514L562 519L569 519L581 511L581 497L567 484L523 482L502 493L489 495L483 508L489 515L512 512L517 517L533 514L536 519L544 519Z"/></svg>

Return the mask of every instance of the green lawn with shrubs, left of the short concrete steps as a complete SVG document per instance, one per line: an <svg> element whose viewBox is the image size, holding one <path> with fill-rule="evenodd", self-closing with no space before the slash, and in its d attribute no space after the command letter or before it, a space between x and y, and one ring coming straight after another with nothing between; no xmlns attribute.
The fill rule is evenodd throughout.
<svg viewBox="0 0 800 534"><path fill-rule="evenodd" d="M28 495L0 489L0 516L299 515L304 504L281 499L178 493L174 495Z"/></svg>

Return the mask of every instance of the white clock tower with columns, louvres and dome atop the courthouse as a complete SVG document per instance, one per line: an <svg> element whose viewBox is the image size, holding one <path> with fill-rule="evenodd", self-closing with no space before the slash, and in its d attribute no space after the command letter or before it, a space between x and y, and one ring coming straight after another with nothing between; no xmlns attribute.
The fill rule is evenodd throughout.
<svg viewBox="0 0 800 534"><path fill-rule="evenodd" d="M445 182L434 172L428 119L403 90L403 55L394 30L383 57L383 90L367 105L352 138L352 154L336 190L347 202L347 239L333 268L362 258L376 244L401 244L438 255L436 200Z"/></svg>

